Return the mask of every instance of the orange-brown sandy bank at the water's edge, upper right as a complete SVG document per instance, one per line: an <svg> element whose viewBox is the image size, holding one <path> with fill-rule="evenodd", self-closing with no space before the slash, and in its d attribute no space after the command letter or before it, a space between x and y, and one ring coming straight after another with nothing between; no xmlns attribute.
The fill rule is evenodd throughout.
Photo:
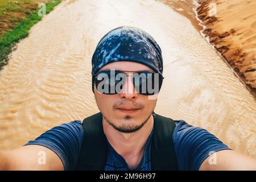
<svg viewBox="0 0 256 182"><path fill-rule="evenodd" d="M203 34L256 97L256 1L197 2Z"/></svg>

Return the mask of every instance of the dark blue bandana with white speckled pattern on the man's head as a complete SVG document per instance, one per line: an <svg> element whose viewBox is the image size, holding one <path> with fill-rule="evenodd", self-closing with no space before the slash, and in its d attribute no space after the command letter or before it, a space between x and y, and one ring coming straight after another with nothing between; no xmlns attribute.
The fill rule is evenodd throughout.
<svg viewBox="0 0 256 182"><path fill-rule="evenodd" d="M147 32L136 27L123 26L109 31L98 43L92 57L92 90L94 74L106 64L133 61L163 73L162 51Z"/></svg>

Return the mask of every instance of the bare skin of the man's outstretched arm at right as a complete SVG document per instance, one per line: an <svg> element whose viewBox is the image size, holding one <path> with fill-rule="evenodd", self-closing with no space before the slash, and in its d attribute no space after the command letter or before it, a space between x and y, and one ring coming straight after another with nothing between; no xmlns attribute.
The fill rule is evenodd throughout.
<svg viewBox="0 0 256 182"><path fill-rule="evenodd" d="M233 150L222 150L208 156L199 170L256 170L256 159Z"/></svg>

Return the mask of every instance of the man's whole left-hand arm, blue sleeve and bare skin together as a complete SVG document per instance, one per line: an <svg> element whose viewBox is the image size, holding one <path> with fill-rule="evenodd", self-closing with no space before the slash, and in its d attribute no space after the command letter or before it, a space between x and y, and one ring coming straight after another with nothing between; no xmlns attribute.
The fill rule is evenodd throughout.
<svg viewBox="0 0 256 182"><path fill-rule="evenodd" d="M75 169L83 138L80 121L53 127L25 146L0 152L0 170Z"/></svg>

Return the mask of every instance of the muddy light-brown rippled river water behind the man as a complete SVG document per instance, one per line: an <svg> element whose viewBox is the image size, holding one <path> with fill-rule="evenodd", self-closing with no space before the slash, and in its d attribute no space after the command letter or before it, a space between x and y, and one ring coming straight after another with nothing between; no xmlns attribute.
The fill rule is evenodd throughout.
<svg viewBox="0 0 256 182"><path fill-rule="evenodd" d="M162 48L156 113L256 156L254 97L187 18L151 0L67 0L32 27L0 72L0 149L98 111L90 59L101 37L123 25L142 28Z"/></svg>

